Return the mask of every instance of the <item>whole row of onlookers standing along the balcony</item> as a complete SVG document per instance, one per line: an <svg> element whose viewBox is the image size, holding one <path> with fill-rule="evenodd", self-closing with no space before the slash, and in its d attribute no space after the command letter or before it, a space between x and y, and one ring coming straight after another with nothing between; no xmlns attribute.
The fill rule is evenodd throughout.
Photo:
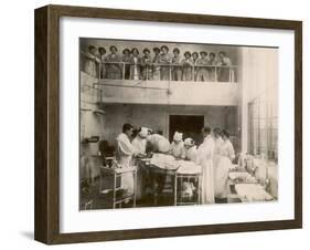
<svg viewBox="0 0 310 250"><path fill-rule="evenodd" d="M142 55L137 48L124 49L118 53L115 45L106 49L88 46L84 55L84 71L92 76L109 80L153 80L153 81L196 81L228 82L234 72L231 59L226 52L217 55L206 51L185 51L183 55L179 48L169 53L169 48L162 45L152 49L145 48Z"/></svg>

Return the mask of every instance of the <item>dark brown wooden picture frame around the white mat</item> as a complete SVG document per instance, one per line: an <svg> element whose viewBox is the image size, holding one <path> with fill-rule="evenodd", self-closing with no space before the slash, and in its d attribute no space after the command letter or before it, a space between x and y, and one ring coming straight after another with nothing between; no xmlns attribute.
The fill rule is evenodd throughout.
<svg viewBox="0 0 310 250"><path fill-rule="evenodd" d="M295 219L60 233L60 18L105 18L291 30L295 32ZM302 227L302 22L66 6L35 10L34 238L55 244Z"/></svg>

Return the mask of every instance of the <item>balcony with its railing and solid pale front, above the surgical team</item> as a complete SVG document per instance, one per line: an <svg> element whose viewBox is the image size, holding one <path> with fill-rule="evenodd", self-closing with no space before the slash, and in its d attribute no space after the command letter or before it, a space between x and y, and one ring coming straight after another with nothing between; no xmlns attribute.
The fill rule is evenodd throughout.
<svg viewBox="0 0 310 250"><path fill-rule="evenodd" d="M107 63L105 63L107 66ZM116 63L114 63L116 64ZM94 76L81 71L82 86L92 86L97 90L97 102L99 103L128 103L128 104L165 104L165 105L237 105L238 87L236 83L236 66L191 66L188 77L173 75L173 69L180 65L164 66L165 76L154 77L152 65L140 66L137 75L132 72L132 65L127 67L126 63L117 63L116 74L103 74L101 65ZM131 70L130 70L131 66ZM203 81L199 81L201 69L206 73ZM218 73L225 71L225 81L220 81ZM98 77L98 75L100 77ZM189 77L190 76L190 77ZM201 75L200 75L201 77ZM223 77L222 77L223 79Z"/></svg>

